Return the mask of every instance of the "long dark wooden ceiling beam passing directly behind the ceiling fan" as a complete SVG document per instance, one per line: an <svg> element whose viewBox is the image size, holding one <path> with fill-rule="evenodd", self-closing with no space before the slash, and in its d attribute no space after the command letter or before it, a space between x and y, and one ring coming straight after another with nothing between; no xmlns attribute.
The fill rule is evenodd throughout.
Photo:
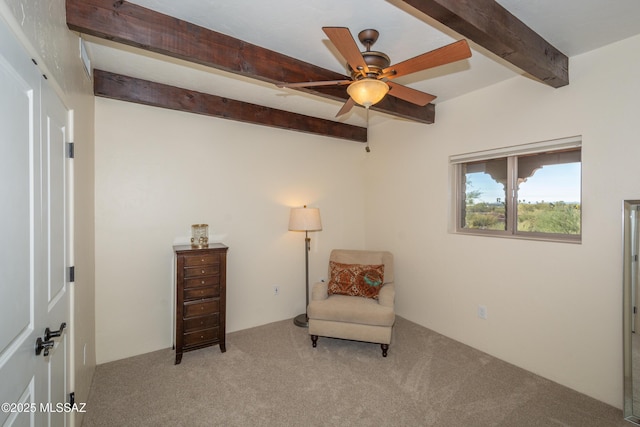
<svg viewBox="0 0 640 427"><path fill-rule="evenodd" d="M341 80L342 74L261 48L242 40L155 12L123 0L66 0L67 26L73 31L146 49L269 83ZM346 101L344 87L301 89ZM383 100L375 110L433 123L433 105Z"/></svg>

